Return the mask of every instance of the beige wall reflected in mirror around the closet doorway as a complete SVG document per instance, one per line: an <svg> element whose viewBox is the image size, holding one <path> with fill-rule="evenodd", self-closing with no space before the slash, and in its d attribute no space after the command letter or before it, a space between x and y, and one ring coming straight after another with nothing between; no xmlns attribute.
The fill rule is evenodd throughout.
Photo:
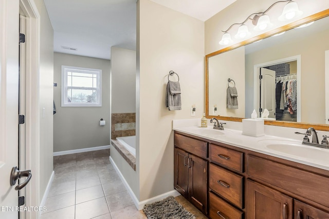
<svg viewBox="0 0 329 219"><path fill-rule="evenodd" d="M324 124L324 51L329 50L328 36L329 31L325 30L246 55L246 84L253 84L254 65L301 55L301 122ZM246 91L253 95L253 87L250 86ZM316 106L310 101L315 95ZM252 101L246 101L249 112L253 109L253 98L251 99Z"/></svg>

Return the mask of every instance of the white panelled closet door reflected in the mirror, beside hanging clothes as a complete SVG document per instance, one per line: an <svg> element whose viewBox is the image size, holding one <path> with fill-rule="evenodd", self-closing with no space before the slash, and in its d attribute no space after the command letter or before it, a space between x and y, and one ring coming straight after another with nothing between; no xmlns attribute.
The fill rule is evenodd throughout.
<svg viewBox="0 0 329 219"><path fill-rule="evenodd" d="M260 108L262 108L261 116L264 109L269 112L269 118L275 118L276 112L276 72L266 68L261 68L261 96Z"/></svg>

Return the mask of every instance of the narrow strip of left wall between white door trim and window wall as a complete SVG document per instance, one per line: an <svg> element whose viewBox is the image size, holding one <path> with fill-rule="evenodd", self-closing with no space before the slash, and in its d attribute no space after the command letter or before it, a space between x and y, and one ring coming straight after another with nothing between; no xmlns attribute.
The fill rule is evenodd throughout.
<svg viewBox="0 0 329 219"><path fill-rule="evenodd" d="M43 0L34 0L38 8L40 22L40 197L42 200L53 170L53 29ZM43 114L44 108L44 114Z"/></svg>

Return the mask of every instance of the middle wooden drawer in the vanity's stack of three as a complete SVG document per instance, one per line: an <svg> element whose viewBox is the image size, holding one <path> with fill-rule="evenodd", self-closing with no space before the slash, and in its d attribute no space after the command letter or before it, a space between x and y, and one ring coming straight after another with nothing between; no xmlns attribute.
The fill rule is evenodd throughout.
<svg viewBox="0 0 329 219"><path fill-rule="evenodd" d="M209 188L243 208L243 176L210 164Z"/></svg>

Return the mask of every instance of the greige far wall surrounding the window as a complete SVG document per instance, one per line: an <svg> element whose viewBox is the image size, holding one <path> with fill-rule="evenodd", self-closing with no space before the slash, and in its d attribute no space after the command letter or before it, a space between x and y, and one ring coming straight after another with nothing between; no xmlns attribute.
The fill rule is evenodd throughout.
<svg viewBox="0 0 329 219"><path fill-rule="evenodd" d="M66 151L109 145L110 106L109 74L111 62L54 52L53 87L57 113L53 115L53 151ZM75 66L102 70L102 107L61 107L61 66ZM100 119L105 126L99 126Z"/></svg>

